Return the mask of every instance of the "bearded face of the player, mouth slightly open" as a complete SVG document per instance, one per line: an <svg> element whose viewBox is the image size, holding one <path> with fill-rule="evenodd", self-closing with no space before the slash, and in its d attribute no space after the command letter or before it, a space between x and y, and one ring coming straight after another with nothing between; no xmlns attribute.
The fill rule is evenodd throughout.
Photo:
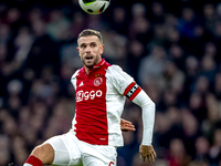
<svg viewBox="0 0 221 166"><path fill-rule="evenodd" d="M93 68L102 61L104 45L96 35L81 37L77 43L81 60L86 68Z"/></svg>

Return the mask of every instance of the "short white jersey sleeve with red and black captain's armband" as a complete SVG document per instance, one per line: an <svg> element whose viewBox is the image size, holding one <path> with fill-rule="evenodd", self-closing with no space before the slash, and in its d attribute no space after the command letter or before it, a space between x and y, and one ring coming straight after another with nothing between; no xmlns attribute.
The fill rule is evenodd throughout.
<svg viewBox="0 0 221 166"><path fill-rule="evenodd" d="M115 90L133 101L140 92L140 87L134 79L122 70L118 65L109 66L109 77Z"/></svg>

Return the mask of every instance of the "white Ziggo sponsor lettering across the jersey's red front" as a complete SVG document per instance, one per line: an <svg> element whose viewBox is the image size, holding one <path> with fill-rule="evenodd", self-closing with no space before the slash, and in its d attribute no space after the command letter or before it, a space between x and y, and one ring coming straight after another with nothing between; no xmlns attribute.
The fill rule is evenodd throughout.
<svg viewBox="0 0 221 166"><path fill-rule="evenodd" d="M95 97L101 97L103 94L103 92L101 90L97 91L78 91L76 93L76 102L81 102L83 100L87 101L87 100L94 100Z"/></svg>

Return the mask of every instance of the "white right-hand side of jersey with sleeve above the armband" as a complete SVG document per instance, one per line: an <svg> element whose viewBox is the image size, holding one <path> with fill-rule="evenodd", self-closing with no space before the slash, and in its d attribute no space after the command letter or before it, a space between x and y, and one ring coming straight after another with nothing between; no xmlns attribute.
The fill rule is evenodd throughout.
<svg viewBox="0 0 221 166"><path fill-rule="evenodd" d="M108 124L108 145L124 146L120 116L124 111L126 97L123 95L125 89L134 82L134 79L125 73L118 65L112 65L107 69L106 75L106 106Z"/></svg>

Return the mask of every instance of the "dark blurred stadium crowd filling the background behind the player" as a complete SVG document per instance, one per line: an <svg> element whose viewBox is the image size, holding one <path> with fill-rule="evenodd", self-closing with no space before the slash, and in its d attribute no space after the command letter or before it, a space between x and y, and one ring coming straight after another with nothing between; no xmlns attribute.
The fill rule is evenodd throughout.
<svg viewBox="0 0 221 166"><path fill-rule="evenodd" d="M0 1L0 166L22 166L34 146L70 129L85 28L102 31L104 58L156 103L151 166L221 166L221 3L124 2L90 15L77 0ZM140 113L126 102L136 132L124 133L117 166L147 165Z"/></svg>

